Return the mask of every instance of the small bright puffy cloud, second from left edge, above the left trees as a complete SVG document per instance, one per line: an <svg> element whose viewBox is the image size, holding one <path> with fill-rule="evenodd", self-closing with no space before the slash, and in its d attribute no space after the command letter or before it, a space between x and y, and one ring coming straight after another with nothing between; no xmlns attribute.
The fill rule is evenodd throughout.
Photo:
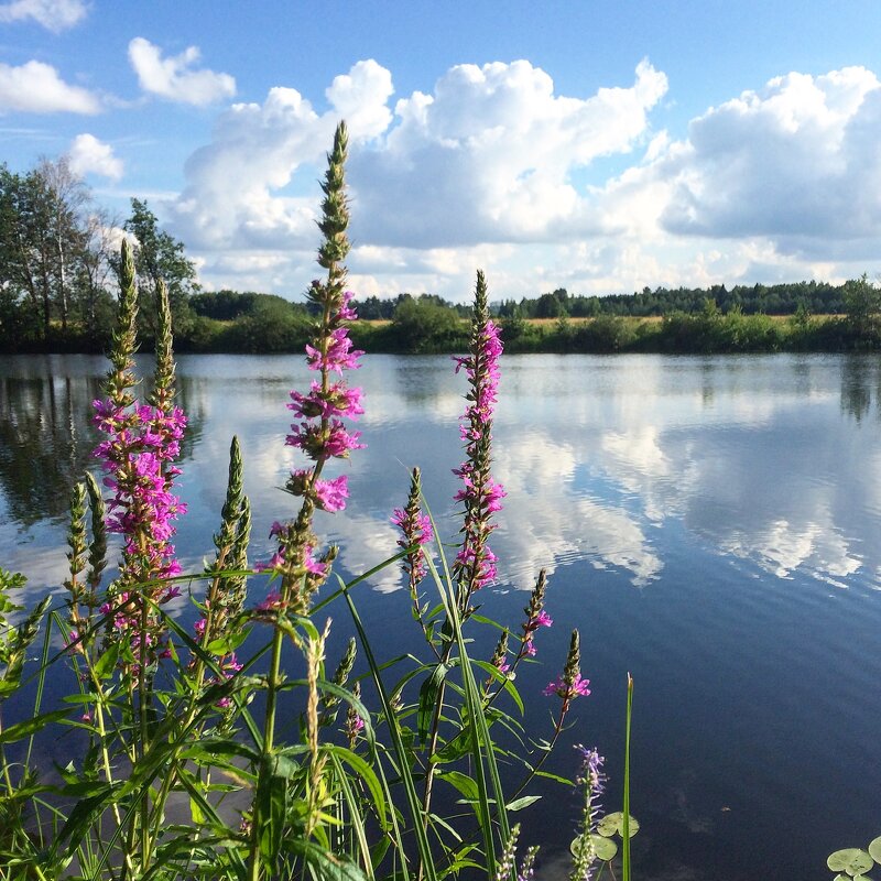
<svg viewBox="0 0 881 881"><path fill-rule="evenodd" d="M144 91L196 106L231 98L236 94L233 77L208 69L194 69L199 58L196 46L189 46L180 55L163 58L160 47L142 36L135 36L129 43L129 61Z"/></svg>

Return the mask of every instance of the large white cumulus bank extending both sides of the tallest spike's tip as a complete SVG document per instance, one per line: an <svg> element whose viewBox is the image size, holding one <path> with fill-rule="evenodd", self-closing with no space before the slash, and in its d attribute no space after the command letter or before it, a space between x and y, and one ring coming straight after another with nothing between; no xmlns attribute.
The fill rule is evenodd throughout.
<svg viewBox="0 0 881 881"><path fill-rule="evenodd" d="M175 206L182 235L204 248L312 249L316 196L285 188L301 168L317 176L346 118L359 246L440 252L544 241L585 226L569 174L643 138L666 77L642 62L632 86L569 98L519 61L450 68L432 95L401 98L393 112L392 91L389 70L362 61L334 79L323 113L282 86L262 105L231 107L187 162Z"/></svg>

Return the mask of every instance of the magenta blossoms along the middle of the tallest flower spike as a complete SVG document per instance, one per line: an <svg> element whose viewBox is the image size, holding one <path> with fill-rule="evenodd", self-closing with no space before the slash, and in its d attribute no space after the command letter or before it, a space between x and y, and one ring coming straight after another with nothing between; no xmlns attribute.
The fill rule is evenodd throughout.
<svg viewBox="0 0 881 881"><path fill-rule="evenodd" d="M319 346L306 346L309 370L320 372L320 381L313 381L309 391L303 394L291 392L291 410L300 422L291 425L291 434L285 443L297 447L313 461L323 465L330 458L347 458L352 449L363 448L359 443L360 432L349 432L344 418L357 420L365 411L361 406L362 392L349 388L341 379L346 370L360 367L358 359L363 355L352 349L348 328L336 326L344 320L355 320L358 315L351 306L351 291L345 291L338 308L329 316L328 324L334 327L328 336L319 340ZM337 382L328 377L336 373ZM349 496L348 478L345 475L333 480L316 477L318 469L296 469L292 471L289 488L294 494L311 496L316 507L324 511L341 511Z"/></svg>

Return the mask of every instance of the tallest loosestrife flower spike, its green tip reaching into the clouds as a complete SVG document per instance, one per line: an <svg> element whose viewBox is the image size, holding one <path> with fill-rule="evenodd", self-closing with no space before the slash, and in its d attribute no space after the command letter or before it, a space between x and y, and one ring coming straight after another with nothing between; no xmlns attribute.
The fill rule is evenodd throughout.
<svg viewBox="0 0 881 881"><path fill-rule="evenodd" d="M346 200L344 166L348 137L340 122L334 137L334 148L328 154L327 172L322 183L324 200L318 228L324 241L318 250L318 263L327 270L325 281L314 281L308 300L319 319L315 336L306 346L306 362L318 377L308 392L292 391L287 404L297 420L291 425L285 444L300 449L312 461L306 468L292 470L286 489L303 499L294 521L276 524L272 534L279 539L279 550L268 564L257 568L269 569L281 576L278 598L261 603L261 612L290 609L295 614L308 610L313 594L329 575L334 554L315 559L313 550L317 540L312 532L316 509L335 512L346 508L349 496L348 478L323 476L325 466L333 459L346 459L354 449L361 449L360 433L350 432L344 420L357 420L363 413L360 389L349 388L345 374L360 367L362 351L354 349L349 338L349 322L357 319L351 305L354 294L345 290L345 259L349 252L346 230L349 211ZM331 377L336 378L333 379Z"/></svg>

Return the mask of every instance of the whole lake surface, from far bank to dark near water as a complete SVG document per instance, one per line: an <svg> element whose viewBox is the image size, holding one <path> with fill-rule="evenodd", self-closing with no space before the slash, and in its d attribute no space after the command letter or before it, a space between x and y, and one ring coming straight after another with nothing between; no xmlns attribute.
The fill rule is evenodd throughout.
<svg viewBox="0 0 881 881"><path fill-rule="evenodd" d="M105 370L100 358L0 357L0 565L28 573L34 598L65 575L67 493L90 465ZM233 433L252 555L268 556L270 524L292 512L276 487L293 463L284 404L307 380L302 359L182 358L178 376L192 424L184 567L211 550ZM388 518L409 466L454 534L460 457L464 380L448 359L373 356L355 378L369 446L345 466L349 508L317 522L344 576L393 552ZM530 733L547 735L541 689L578 627L594 693L566 738L609 757L609 809L633 674L642 881L826 879L831 850L881 835L880 398L871 357L503 359L496 474L509 497L483 610L516 627L548 568L555 627L539 638L543 664L518 681L539 710ZM388 572L360 595L388 656L418 648L399 587ZM333 614L341 642L346 616ZM562 747L553 770L575 765ZM565 874L576 811L554 788L521 815L521 840L544 842L541 878Z"/></svg>

